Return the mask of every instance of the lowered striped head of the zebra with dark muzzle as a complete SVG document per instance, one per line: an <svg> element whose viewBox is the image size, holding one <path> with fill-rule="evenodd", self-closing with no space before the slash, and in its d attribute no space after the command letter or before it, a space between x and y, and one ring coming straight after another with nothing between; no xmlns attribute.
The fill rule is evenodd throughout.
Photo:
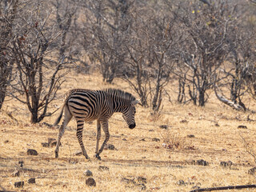
<svg viewBox="0 0 256 192"><path fill-rule="evenodd" d="M134 115L136 113L135 105L138 104L138 100L130 102L129 106L126 106L122 112L122 118L126 121L130 129L134 129L136 126Z"/></svg>

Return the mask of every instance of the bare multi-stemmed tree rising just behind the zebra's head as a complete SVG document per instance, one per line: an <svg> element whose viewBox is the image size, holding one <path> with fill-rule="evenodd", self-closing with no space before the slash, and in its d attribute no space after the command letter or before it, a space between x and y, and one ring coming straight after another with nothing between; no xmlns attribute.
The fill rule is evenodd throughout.
<svg viewBox="0 0 256 192"><path fill-rule="evenodd" d="M135 74L135 82L127 76L123 78L138 93L142 106L148 106L150 97L155 111L160 109L164 87L170 80L175 55L172 51L178 42L174 19L164 14L163 8L161 2L134 8L125 62Z"/></svg>

